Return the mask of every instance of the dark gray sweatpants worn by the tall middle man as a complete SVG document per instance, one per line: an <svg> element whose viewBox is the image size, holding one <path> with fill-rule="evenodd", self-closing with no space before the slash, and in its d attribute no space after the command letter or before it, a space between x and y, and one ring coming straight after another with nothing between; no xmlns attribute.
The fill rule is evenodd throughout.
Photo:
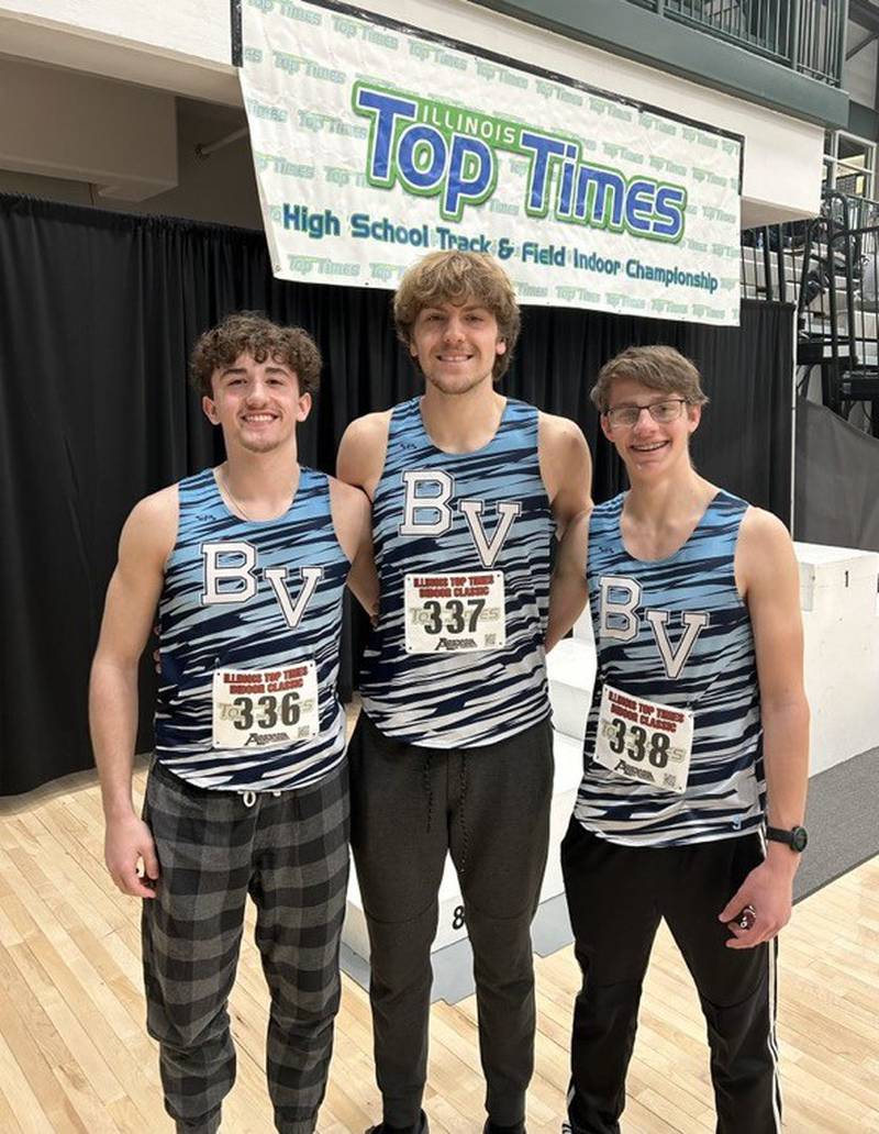
<svg viewBox="0 0 879 1134"><path fill-rule="evenodd" d="M421 1108L430 946L450 852L473 947L485 1109L514 1125L534 1069L531 922L549 844L550 722L495 745L439 750L386 737L361 713L348 761L384 1122L405 1127Z"/></svg>

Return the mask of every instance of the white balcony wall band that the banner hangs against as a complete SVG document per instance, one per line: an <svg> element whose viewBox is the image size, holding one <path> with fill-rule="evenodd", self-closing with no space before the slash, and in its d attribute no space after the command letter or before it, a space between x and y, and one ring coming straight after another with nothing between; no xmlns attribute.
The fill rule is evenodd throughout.
<svg viewBox="0 0 879 1134"><path fill-rule="evenodd" d="M818 212L822 129L464 0L363 0L416 27L745 136L743 223ZM239 104L228 0L0 0L7 54Z"/></svg>

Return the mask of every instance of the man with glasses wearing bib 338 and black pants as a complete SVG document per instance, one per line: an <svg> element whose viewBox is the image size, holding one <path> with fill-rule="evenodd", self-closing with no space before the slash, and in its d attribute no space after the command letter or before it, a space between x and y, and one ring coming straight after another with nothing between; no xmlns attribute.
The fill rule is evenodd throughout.
<svg viewBox="0 0 879 1134"><path fill-rule="evenodd" d="M561 848L583 971L566 1128L619 1129L665 917L708 1024L717 1128L768 1134L781 1128L774 939L805 846L794 551L775 516L693 468L688 440L707 398L676 350L624 350L592 400L631 490L592 513L585 575L581 531L556 579L568 599L588 582L598 651Z"/></svg>

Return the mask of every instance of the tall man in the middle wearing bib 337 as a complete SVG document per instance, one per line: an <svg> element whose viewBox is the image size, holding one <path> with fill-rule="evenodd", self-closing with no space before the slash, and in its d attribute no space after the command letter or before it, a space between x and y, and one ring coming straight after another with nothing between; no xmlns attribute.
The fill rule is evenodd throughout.
<svg viewBox="0 0 879 1134"><path fill-rule="evenodd" d="M430 946L450 852L474 954L485 1129L516 1134L552 793L550 544L589 502L589 450L573 422L496 390L519 314L490 256L425 256L394 311L424 393L354 422L338 468L373 501L381 589L349 748L383 1105L373 1129L428 1129Z"/></svg>

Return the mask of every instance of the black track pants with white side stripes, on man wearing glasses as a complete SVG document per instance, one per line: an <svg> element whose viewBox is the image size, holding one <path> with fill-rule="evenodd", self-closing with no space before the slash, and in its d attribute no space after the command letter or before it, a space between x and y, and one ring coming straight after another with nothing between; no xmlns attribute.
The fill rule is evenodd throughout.
<svg viewBox="0 0 879 1134"><path fill-rule="evenodd" d="M660 919L695 981L708 1025L719 1134L781 1129L776 942L728 949L717 915L763 857L759 835L626 847L572 819L561 844L583 987L574 1005L572 1134L618 1134L641 985Z"/></svg>

